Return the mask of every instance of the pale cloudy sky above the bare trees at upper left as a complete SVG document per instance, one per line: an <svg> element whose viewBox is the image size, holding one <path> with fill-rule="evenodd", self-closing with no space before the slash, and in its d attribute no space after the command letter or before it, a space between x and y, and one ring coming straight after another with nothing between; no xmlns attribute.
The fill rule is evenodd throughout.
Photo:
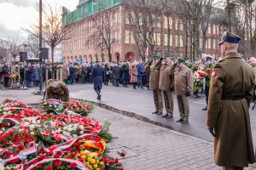
<svg viewBox="0 0 256 170"><path fill-rule="evenodd" d="M43 0L51 5L64 6L74 10L79 0ZM0 0L0 38L17 35L26 37L21 28L27 28L37 22L38 12L36 6L39 0Z"/></svg>

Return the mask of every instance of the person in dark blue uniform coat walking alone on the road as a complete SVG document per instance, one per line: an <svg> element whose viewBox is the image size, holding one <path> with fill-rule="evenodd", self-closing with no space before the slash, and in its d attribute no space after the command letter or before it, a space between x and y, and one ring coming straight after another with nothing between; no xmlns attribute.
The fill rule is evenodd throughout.
<svg viewBox="0 0 256 170"><path fill-rule="evenodd" d="M97 99L101 100L101 90L102 90L102 83L103 83L103 76L104 76L104 68L100 65L100 61L96 61L96 65L92 68L91 71L91 79L94 83L94 90L97 94Z"/></svg>

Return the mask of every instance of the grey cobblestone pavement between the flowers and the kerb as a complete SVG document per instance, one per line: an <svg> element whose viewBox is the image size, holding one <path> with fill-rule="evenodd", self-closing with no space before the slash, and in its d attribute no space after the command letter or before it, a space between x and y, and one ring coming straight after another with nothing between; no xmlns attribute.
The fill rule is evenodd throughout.
<svg viewBox="0 0 256 170"><path fill-rule="evenodd" d="M222 169L213 163L212 142L101 108L96 108L90 117L102 123L111 122L109 131L116 139L109 145L110 149L127 147L136 153L137 156L129 157L127 152L127 158L121 160L125 170ZM245 169L255 170L256 164Z"/></svg>

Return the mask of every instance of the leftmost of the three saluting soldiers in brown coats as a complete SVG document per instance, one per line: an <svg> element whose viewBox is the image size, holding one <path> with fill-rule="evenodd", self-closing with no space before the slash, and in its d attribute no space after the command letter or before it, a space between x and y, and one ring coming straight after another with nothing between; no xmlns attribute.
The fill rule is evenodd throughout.
<svg viewBox="0 0 256 170"><path fill-rule="evenodd" d="M155 111L152 114L161 115L163 112L163 94L159 88L160 56L154 56L153 60L145 66L146 74L149 73L149 88L153 91Z"/></svg>

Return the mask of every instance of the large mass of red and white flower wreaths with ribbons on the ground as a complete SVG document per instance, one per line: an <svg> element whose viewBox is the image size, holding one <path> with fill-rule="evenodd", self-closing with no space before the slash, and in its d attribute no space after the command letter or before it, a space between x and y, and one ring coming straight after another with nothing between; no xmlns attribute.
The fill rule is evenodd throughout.
<svg viewBox="0 0 256 170"><path fill-rule="evenodd" d="M50 105L59 104L51 101ZM83 101L74 100L58 114L40 112L16 100L1 106L0 169L123 169L117 158L107 155L107 141L113 139L108 133L110 123L102 126L76 109L88 111L92 105L88 108ZM23 108L5 111L9 106Z"/></svg>

